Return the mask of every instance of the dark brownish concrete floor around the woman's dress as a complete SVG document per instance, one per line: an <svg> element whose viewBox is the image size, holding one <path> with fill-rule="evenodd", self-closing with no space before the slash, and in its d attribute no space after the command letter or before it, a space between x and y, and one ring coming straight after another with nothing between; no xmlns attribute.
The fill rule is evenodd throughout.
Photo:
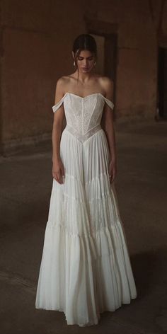
<svg viewBox="0 0 167 334"><path fill-rule="evenodd" d="M52 147L0 158L0 328L3 334L155 334L167 331L167 122L115 124L115 188L138 297L98 326L67 326L63 312L35 309L52 187Z"/></svg>

